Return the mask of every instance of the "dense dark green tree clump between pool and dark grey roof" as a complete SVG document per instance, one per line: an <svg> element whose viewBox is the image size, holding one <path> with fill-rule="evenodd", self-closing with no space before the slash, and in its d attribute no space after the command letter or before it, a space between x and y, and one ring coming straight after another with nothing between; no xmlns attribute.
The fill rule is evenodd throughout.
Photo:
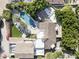
<svg viewBox="0 0 79 59"><path fill-rule="evenodd" d="M46 0L36 0L33 3L26 5L26 12L36 19L37 13L48 6L49 3Z"/></svg>

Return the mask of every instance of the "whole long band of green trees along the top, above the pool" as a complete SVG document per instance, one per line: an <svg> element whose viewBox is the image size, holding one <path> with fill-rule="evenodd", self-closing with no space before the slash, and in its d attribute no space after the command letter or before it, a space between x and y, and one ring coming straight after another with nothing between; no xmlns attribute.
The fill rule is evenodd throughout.
<svg viewBox="0 0 79 59"><path fill-rule="evenodd" d="M33 3L26 3L26 2L16 2L7 4L6 8L13 10L25 10L26 13L30 14L34 19L37 17L37 13L46 7L49 6L49 3L46 0L35 0Z"/></svg>

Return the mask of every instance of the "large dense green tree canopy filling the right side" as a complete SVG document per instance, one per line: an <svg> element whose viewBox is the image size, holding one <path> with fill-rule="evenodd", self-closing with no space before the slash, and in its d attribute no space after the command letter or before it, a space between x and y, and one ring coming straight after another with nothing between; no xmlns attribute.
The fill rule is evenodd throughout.
<svg viewBox="0 0 79 59"><path fill-rule="evenodd" d="M62 47L66 50L75 50L78 44L78 20L71 6L56 10L58 21L62 24Z"/></svg>

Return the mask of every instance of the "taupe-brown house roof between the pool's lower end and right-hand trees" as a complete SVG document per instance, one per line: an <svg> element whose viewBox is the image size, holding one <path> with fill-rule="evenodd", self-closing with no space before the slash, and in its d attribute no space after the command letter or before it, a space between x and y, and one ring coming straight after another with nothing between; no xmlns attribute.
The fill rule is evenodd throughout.
<svg viewBox="0 0 79 59"><path fill-rule="evenodd" d="M55 47L56 43L56 31L55 31L56 24L50 21L40 22L39 29L44 31L44 43L45 49L51 49Z"/></svg>

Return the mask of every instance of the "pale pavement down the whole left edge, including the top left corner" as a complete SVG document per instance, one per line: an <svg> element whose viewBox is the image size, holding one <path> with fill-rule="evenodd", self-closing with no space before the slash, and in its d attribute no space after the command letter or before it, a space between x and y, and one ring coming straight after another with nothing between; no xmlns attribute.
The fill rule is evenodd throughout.
<svg viewBox="0 0 79 59"><path fill-rule="evenodd" d="M10 0L0 0L0 16L2 16L2 13L3 13L3 10L6 9L6 4L7 3L10 3ZM5 52L5 54L9 54L9 44L8 44L8 41L6 40L6 25L5 25L5 20L3 20L4 22L4 27L1 29L1 32L2 32L2 47L1 47L1 52L0 52L0 57L1 57L1 54L3 52ZM2 59L2 58L0 58Z"/></svg>

